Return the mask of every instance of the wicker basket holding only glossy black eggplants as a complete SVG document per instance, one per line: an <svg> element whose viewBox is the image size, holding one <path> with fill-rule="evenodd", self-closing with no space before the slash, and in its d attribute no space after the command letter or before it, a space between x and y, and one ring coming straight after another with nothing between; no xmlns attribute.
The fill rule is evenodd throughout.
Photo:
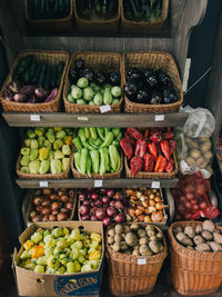
<svg viewBox="0 0 222 297"><path fill-rule="evenodd" d="M178 67L173 60L173 57L167 52L151 51L151 52L128 52L123 55L123 85L125 83L125 75L129 68L138 67L141 70L145 68L161 68L165 71L175 89L176 96L179 97L179 101L171 105L142 105L134 103L130 101L127 96L124 96L124 110L127 112L173 112L178 111L183 102L183 92L182 92L182 83L180 80L180 76L178 72Z"/></svg>

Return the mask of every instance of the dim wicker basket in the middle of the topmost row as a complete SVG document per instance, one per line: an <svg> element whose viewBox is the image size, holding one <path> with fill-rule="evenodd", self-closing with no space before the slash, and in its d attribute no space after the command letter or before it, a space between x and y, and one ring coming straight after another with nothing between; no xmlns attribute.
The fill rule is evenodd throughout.
<svg viewBox="0 0 222 297"><path fill-rule="evenodd" d="M85 32L85 33L115 33L119 29L120 23L120 1L118 4L117 16L113 19L109 20L87 20L79 17L78 9L77 9L77 1L74 0L74 18L75 18L75 26L77 31Z"/></svg>

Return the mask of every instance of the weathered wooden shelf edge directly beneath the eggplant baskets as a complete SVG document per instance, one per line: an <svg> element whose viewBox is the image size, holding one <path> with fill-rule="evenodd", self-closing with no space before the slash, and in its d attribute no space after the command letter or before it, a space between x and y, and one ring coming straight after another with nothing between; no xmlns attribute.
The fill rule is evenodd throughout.
<svg viewBox="0 0 222 297"><path fill-rule="evenodd" d="M37 117L33 117L37 116ZM18 113L3 112L10 127L182 127L186 113ZM38 117L39 116L39 117ZM163 116L163 117L159 117ZM34 120L33 120L34 118ZM163 119L163 120L162 120Z"/></svg>

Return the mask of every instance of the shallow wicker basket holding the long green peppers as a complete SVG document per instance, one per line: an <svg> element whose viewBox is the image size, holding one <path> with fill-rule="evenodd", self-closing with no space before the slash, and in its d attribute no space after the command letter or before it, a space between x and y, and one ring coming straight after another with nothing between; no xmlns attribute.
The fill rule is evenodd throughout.
<svg viewBox="0 0 222 297"><path fill-rule="evenodd" d="M123 169L123 155L121 154L121 159L120 159L120 170L113 174L104 174L103 176L99 174L91 174L91 177L88 175L82 175L80 174L75 168L74 168L74 154L72 154L71 157L71 170L72 170L72 176L73 178L97 178L97 179L110 179L110 178L120 178Z"/></svg>

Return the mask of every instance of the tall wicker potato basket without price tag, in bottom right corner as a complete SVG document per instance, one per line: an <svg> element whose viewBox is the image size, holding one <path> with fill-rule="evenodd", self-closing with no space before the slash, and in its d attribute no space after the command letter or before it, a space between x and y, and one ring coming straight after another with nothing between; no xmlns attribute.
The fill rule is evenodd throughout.
<svg viewBox="0 0 222 297"><path fill-rule="evenodd" d="M222 251L203 253L181 246L173 235L175 227L202 225L199 221L178 221L171 225L171 278L175 290L185 296L211 294L222 281ZM218 226L222 230L222 227Z"/></svg>

